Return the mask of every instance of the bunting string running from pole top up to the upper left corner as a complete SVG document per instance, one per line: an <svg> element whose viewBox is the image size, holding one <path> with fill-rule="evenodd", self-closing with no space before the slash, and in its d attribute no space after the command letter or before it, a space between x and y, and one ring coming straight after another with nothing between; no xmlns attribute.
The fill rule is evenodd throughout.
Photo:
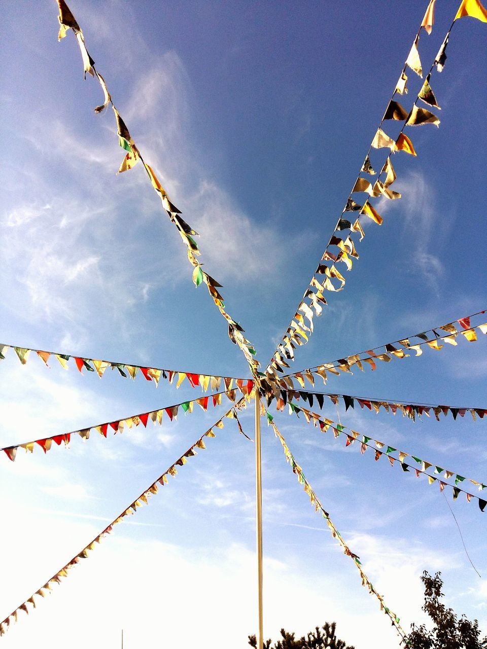
<svg viewBox="0 0 487 649"><path fill-rule="evenodd" d="M66 5L66 2L64 0L57 0L57 2L59 6L58 20L60 23L58 40L64 38L64 36L66 36L66 32L69 29L73 30L73 33L75 34L75 37L81 49L81 56L82 56L82 61L84 66L84 78L86 79L86 73L90 74L92 77L96 76L103 90L105 101L103 102L103 104L101 104L101 106L97 106L95 108L95 112L101 113L106 108L106 106L108 106L108 104L110 104L113 108L115 118L116 118L119 145L122 147L122 149L124 149L127 152L119 168L119 173L132 169L132 167L134 167L134 165L137 164L138 160L142 161L142 164L144 165L144 169L147 173L147 177L149 178L158 197L160 197L162 201L162 207L164 208L164 210L166 210L169 219L171 220L171 223L175 225L182 238L182 241L186 245L186 249L188 252L188 260L190 261L193 267L193 282L195 286L199 286L200 284L206 284L206 287L208 288L208 293L210 293L210 296L214 304L217 306L219 312L221 313L221 315L223 315L223 317L227 321L229 337L232 343L240 347L240 349L243 352L243 355L245 356L245 359L247 360L247 363L249 364L249 368L251 370L253 377L258 381L259 363L255 358L256 355L255 348L253 347L252 343L248 341L247 338L245 338L245 336L243 336L243 328L240 326L240 324L238 324L225 310L225 302L223 300L223 297L218 291L218 289L221 288L221 284L219 284L214 278L212 278L212 276L208 275L208 273L203 271L203 267L201 263L197 260L199 254L201 254L197 246L197 243L194 239L194 236L197 236L197 232L192 227L190 227L190 225L188 225L186 221L182 219L181 211L178 210L178 208L175 207L174 204L169 200L166 191L164 190L158 178L156 177L155 171L142 158L142 154L140 153L140 150L138 149L136 143L132 139L129 129L127 129L125 122L121 118L118 110L116 109L112 101L112 97L110 95L110 92L108 92L108 88L106 87L105 80L95 68L95 62L90 56L90 54L88 53L88 50L86 49L81 27L79 27L79 24L77 23L68 5Z"/></svg>

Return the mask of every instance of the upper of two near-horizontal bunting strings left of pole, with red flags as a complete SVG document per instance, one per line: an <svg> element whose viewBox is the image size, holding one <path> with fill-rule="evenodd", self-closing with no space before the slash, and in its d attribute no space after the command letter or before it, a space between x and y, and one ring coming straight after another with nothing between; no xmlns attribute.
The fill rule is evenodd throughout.
<svg viewBox="0 0 487 649"><path fill-rule="evenodd" d="M135 380L137 374L140 376L142 375L146 381L152 381L156 387L158 386L161 377L168 380L171 385L175 382L176 387L178 388L185 379L188 379L188 382L192 387L199 385L203 391L206 391L208 387L212 390L218 390L221 381L223 381L227 389L231 389L233 382L235 382L235 385L240 389L242 394L247 394L249 391L253 390L254 385L253 380L251 379L236 378L235 376L212 376L211 374L182 372L181 370L163 369L162 367L144 367L143 365L131 365L129 363L118 363L116 361L85 358L84 356L76 356L75 354L61 354L60 352L46 352L41 349L29 347L16 347L16 345L0 344L0 360L5 360L5 353L8 349L14 350L22 365L27 363L29 354L34 352L42 361L44 361L46 367L49 367L47 361L49 361L49 358L52 356L59 361L64 369L68 369L69 360L71 360L75 361L75 365L81 374L83 370L86 369L88 372L95 372L101 378L106 369L110 368L112 371L117 370L119 376L123 376L123 378L130 376L132 380Z"/></svg>

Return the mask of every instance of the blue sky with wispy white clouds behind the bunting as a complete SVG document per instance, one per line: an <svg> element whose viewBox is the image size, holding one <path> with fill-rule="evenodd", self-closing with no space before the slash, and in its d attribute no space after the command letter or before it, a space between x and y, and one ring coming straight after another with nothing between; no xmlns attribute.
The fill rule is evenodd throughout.
<svg viewBox="0 0 487 649"><path fill-rule="evenodd" d="M428 69L457 1L439 0L419 53ZM200 234L205 269L265 365L288 326L353 186L427 3L180 3L77 0L97 68L131 134ZM1 341L194 372L247 376L245 360L138 165L123 158L114 119L95 116L97 82L82 78L73 35L57 42L56 3L6 6L1 96ZM440 129L408 129L417 158L397 154L400 201L379 202L360 260L316 320L295 369L341 358L487 306L483 225L486 26L456 23L431 85ZM421 87L412 71L408 109ZM393 134L397 127L386 123ZM398 129L397 129L398 130ZM372 163L382 164L382 152ZM375 167L377 168L377 167ZM328 296L327 296L328 297ZM486 406L487 341L460 341L374 373L330 379L329 391ZM190 387L103 380L46 369L10 353L0 368L2 445L59 434L195 398ZM190 397L191 395L191 397ZM219 412L223 412L222 405ZM336 419L336 409L323 414ZM203 415L203 416L202 416ZM179 416L44 456L2 463L0 539L5 615L76 554L217 417ZM486 482L486 421L413 424L340 411L343 424ZM297 461L386 603L421 621L424 569L442 570L449 606L487 632L485 515L373 454L276 417ZM251 409L242 416L252 435ZM336 620L356 649L395 646L264 431L266 637ZM476 493L476 492L473 492ZM255 630L253 445L227 421L149 507L73 570L6 647L160 646L197 629L201 647L245 646ZM451 498L451 495L450 495ZM0 613L0 617L3 617ZM218 620L218 622L217 622ZM189 625L188 625L189 622ZM216 628L218 631L216 631ZM47 641L46 641L47 642ZM188 641L190 644L190 641Z"/></svg>

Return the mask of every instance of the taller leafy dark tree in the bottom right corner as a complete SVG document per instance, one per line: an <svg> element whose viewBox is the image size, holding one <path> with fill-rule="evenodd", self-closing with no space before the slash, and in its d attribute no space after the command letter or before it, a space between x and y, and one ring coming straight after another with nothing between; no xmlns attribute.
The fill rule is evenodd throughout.
<svg viewBox="0 0 487 649"><path fill-rule="evenodd" d="M487 649L487 636L481 640L479 622L470 622L465 615L458 618L453 609L440 602L443 597L441 572L435 576L425 570L421 581L425 585L425 604L423 611L434 622L432 630L427 631L424 624L411 625L408 637L410 649Z"/></svg>

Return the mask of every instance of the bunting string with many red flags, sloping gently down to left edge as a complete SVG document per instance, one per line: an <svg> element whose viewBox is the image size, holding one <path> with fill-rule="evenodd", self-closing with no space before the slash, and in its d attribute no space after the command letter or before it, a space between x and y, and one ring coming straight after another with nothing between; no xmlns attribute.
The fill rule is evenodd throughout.
<svg viewBox="0 0 487 649"><path fill-rule="evenodd" d="M125 426L128 429L131 429L132 426L138 426L142 424L144 428L147 428L147 422L149 419L154 422L154 424L159 424L162 426L162 418L164 413L166 417L169 418L169 421L177 421L177 415L179 408L186 413L192 413L194 404L197 404L201 410L206 411L208 406L219 406L221 405L222 395L227 395L227 397L234 402L237 397L236 389L227 390L225 392L218 392L213 395L208 395L207 397L199 397L197 399L192 399L189 401L183 401L179 404L173 406L167 406L166 408L160 408L158 410L153 410L151 412L138 413L137 415L131 415L130 417L125 417L125 419L117 419L116 421L108 421L103 424L94 424L94 426L88 426L88 428L82 428L79 430L71 430L69 433L62 433L60 435L53 435L52 437L43 437L42 439L34 439L29 442L23 442L21 444L15 444L9 447L0 448L0 452L3 451L5 455L13 461L17 456L17 451L19 448L25 449L25 452L34 452L34 448L39 446L44 450L44 453L47 453L48 450L51 450L53 442L60 446L64 443L65 447L68 447L69 442L71 441L71 435L79 435L81 439L90 439L90 432L97 431L100 435L106 438L106 435L111 430L114 431L114 435L117 433L122 433ZM243 397L244 399L250 399L250 395Z"/></svg>

